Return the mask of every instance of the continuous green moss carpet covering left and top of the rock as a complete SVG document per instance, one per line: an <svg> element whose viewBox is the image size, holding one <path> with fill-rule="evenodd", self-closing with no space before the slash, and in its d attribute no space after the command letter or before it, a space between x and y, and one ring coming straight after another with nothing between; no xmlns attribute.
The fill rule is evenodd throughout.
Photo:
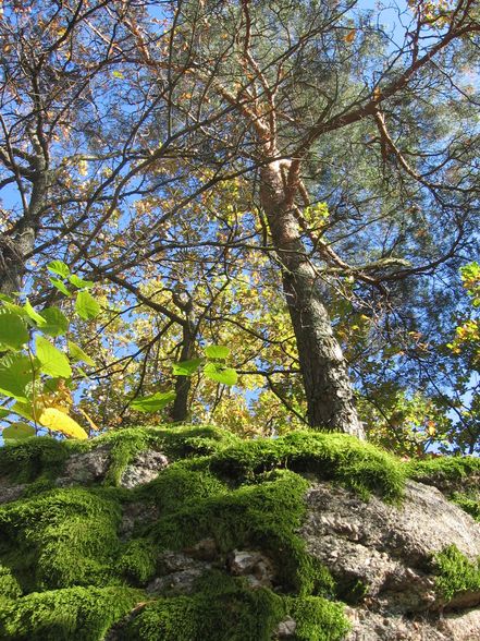
<svg viewBox="0 0 480 641"><path fill-rule="evenodd" d="M69 457L98 447L109 451L100 484L56 486ZM169 467L147 485L119 487L145 450L163 452ZM340 640L348 624L337 586L298 534L306 492L317 480L397 503L411 473L373 446L313 432L247 442L208 426L132 427L86 443L4 447L0 477L28 485L0 507L0 638L96 641L114 627L116 639L139 641L267 641L292 617L299 640ZM132 508L145 519L126 536ZM145 591L164 553L204 540L220 563L193 593ZM253 590L229 575L234 549L268 556L274 582Z"/></svg>

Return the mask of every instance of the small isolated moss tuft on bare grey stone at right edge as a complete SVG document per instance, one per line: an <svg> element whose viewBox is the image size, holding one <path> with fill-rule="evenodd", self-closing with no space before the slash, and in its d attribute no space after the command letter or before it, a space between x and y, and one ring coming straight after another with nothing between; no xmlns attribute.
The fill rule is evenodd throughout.
<svg viewBox="0 0 480 641"><path fill-rule="evenodd" d="M446 602L465 592L480 591L480 558L472 563L450 545L433 557L436 591Z"/></svg>

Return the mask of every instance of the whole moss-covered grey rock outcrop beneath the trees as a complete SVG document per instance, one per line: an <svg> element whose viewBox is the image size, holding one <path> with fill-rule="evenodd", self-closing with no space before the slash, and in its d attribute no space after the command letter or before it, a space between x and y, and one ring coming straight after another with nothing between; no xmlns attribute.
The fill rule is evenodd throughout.
<svg viewBox="0 0 480 641"><path fill-rule="evenodd" d="M480 525L448 500L478 477L313 433L9 446L0 638L480 639Z"/></svg>

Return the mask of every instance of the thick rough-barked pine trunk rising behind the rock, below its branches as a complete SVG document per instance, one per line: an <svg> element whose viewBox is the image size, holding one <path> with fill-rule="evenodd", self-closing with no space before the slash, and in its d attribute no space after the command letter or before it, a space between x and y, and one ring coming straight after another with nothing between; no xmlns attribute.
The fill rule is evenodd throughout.
<svg viewBox="0 0 480 641"><path fill-rule="evenodd" d="M260 172L260 198L282 264L283 291L294 328L312 427L365 438L355 408L347 364L322 301L318 276L308 259L285 186L286 161Z"/></svg>

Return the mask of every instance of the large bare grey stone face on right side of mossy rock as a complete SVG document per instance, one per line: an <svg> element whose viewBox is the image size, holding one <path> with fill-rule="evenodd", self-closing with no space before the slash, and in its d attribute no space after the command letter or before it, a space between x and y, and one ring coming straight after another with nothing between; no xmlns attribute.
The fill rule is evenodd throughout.
<svg viewBox="0 0 480 641"><path fill-rule="evenodd" d="M408 482L402 505L393 506L316 483L306 500L300 533L308 551L346 591L364 586L348 608L348 641L480 640L479 616L450 614L480 604L480 592L444 603L434 591L434 553L455 544L471 560L480 556L480 525L439 489Z"/></svg>

